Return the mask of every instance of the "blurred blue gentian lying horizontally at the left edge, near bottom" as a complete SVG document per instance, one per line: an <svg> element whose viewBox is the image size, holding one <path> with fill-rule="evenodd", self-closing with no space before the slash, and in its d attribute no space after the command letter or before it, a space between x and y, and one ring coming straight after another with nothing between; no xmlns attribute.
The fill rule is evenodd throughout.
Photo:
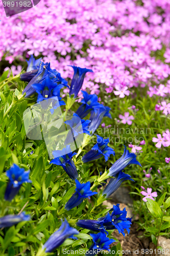
<svg viewBox="0 0 170 256"><path fill-rule="evenodd" d="M0 218L0 228L11 227L21 221L29 221L30 219L30 215L26 215L25 212L21 212L19 215L6 215Z"/></svg>

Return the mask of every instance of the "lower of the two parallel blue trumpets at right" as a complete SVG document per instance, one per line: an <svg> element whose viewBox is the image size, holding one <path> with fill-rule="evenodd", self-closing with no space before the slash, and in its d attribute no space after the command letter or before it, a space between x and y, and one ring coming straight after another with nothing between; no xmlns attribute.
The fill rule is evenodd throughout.
<svg viewBox="0 0 170 256"><path fill-rule="evenodd" d="M130 175L125 174L120 170L120 172L117 173L116 176L109 181L109 184L103 190L102 195L106 194L106 198L110 197L117 190L117 188L122 184L124 180L132 180L132 179Z"/></svg>

